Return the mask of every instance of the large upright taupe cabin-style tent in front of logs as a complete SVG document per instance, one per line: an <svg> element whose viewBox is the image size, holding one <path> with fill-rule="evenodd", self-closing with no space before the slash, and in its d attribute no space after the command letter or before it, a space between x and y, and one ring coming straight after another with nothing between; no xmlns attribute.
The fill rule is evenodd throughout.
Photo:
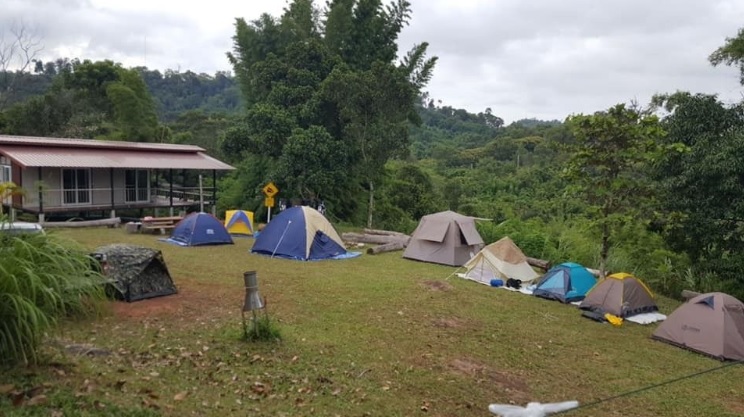
<svg viewBox="0 0 744 417"><path fill-rule="evenodd" d="M403 257L436 264L462 266L483 246L475 220L454 211L421 218Z"/></svg>

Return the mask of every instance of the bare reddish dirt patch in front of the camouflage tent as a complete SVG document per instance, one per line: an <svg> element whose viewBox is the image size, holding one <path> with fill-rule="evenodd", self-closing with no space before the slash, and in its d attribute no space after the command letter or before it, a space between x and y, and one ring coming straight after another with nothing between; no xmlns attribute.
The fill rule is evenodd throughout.
<svg viewBox="0 0 744 417"><path fill-rule="evenodd" d="M133 303L115 302L113 312L123 319L178 317L189 320L204 316L205 312L219 314L219 311L227 308L239 311L241 303L242 295L234 291L183 282L178 286L178 294Z"/></svg>

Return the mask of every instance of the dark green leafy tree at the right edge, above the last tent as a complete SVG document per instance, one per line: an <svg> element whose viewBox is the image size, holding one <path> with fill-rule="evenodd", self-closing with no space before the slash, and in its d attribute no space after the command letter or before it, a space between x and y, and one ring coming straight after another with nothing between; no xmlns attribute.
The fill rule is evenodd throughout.
<svg viewBox="0 0 744 417"><path fill-rule="evenodd" d="M656 102L670 111L666 141L687 148L666 155L655 171L666 240L700 269L742 282L731 266L744 250L744 106L690 93Z"/></svg>

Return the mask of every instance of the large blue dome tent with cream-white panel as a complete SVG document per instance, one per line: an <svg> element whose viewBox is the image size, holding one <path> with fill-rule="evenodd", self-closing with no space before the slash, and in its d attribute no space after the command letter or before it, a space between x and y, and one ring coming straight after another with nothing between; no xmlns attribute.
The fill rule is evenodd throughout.
<svg viewBox="0 0 744 417"><path fill-rule="evenodd" d="M347 257L331 223L306 206L286 209L271 219L258 234L251 252L303 261Z"/></svg>

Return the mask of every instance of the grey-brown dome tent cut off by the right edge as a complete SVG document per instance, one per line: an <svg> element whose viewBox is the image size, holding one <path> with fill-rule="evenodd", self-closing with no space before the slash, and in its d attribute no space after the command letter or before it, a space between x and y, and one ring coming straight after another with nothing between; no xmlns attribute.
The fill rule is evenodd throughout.
<svg viewBox="0 0 744 417"><path fill-rule="evenodd" d="M717 359L744 360L744 303L720 293L679 306L651 336Z"/></svg>

